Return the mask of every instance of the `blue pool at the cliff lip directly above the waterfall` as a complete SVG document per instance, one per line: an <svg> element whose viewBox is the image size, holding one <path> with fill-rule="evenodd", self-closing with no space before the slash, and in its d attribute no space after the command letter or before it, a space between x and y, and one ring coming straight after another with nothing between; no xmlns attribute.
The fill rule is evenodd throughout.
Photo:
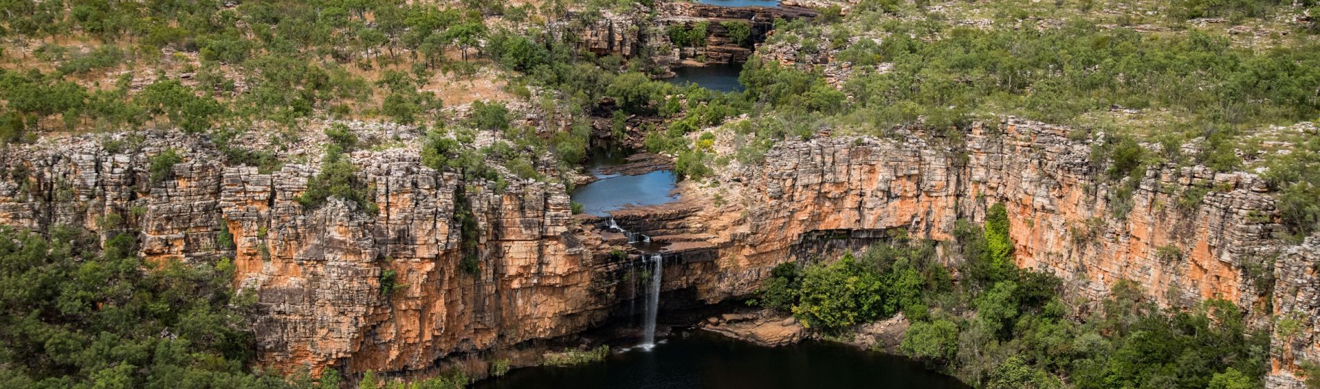
<svg viewBox="0 0 1320 389"><path fill-rule="evenodd" d="M677 200L671 193L678 178L673 170L656 170L638 175L602 174L601 170L627 162L627 152L620 149L591 150L590 171L599 178L578 186L570 198L582 204L587 215L609 216L610 211L627 206L656 206Z"/></svg>

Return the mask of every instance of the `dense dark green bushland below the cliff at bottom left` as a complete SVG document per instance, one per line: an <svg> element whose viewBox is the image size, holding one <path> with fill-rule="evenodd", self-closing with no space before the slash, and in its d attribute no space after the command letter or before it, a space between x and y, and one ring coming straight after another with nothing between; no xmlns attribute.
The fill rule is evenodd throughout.
<svg viewBox="0 0 1320 389"><path fill-rule="evenodd" d="M132 233L100 248L91 232L49 236L0 227L3 388L339 388L339 372L255 369L246 315L256 295L232 287L234 265L144 261ZM360 388L463 388L449 373Z"/></svg>

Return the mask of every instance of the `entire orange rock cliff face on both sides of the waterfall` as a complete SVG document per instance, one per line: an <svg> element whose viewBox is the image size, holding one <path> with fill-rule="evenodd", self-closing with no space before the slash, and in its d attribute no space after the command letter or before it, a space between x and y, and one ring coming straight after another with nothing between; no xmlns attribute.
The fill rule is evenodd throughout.
<svg viewBox="0 0 1320 389"><path fill-rule="evenodd" d="M857 249L894 228L946 240L957 219L978 222L1003 202L1020 266L1053 272L1092 301L1119 280L1167 306L1233 301L1274 328L1270 385L1299 385L1295 364L1320 359L1320 236L1282 240L1274 200L1247 173L1156 166L1130 208L1111 203L1114 185L1068 132L977 124L964 150L920 133L784 142L715 185L685 183L678 203L615 219L669 244L667 307L746 297L776 264ZM183 162L153 182L150 156L166 148ZM627 240L605 219L570 215L561 185L511 179L496 193L424 167L414 149L350 158L376 214L338 199L306 208L296 198L315 166L224 166L197 136L152 133L127 150L94 136L8 146L0 223L133 232L152 261L232 257L235 285L256 293L259 359L284 369L407 373L499 357L598 327L639 297L642 254L612 253ZM1189 191L1205 195L1187 204ZM457 227L457 207L471 211L475 236ZM462 270L465 240L475 243L475 273ZM388 274L396 287L385 294Z"/></svg>

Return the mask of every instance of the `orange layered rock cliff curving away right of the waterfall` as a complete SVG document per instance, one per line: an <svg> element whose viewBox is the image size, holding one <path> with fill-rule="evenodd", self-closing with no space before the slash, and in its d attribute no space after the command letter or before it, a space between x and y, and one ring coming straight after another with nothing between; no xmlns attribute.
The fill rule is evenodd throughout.
<svg viewBox="0 0 1320 389"><path fill-rule="evenodd" d="M1071 297L1096 303L1130 280L1163 306L1228 299L1261 328L1290 318L1290 328L1274 330L1269 381L1299 388L1296 364L1320 356L1320 237L1288 243L1274 199L1249 173L1164 164L1123 199L1115 195L1122 183L1090 161L1090 142L1069 133L1010 119L973 125L961 146L903 129L884 138L784 142L759 165L721 173L709 186L719 190L685 191L726 199L692 207L686 223L645 222L656 215L648 210L616 218L645 233L708 236L719 273L694 287L718 302L754 293L776 264L840 252L803 249L820 240L875 240L894 228L948 240L960 218L981 223L1002 202L1018 265L1060 276ZM673 232L673 224L704 228Z"/></svg>

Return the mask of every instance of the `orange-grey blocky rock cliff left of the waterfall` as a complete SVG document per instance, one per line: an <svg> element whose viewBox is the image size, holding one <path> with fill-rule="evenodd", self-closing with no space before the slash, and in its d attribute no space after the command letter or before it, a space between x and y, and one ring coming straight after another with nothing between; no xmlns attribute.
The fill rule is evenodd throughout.
<svg viewBox="0 0 1320 389"><path fill-rule="evenodd" d="M296 199L314 166L259 173L216 164L220 153L195 136L150 133L117 150L123 138L5 148L0 223L135 233L150 261L234 258L235 284L256 294L267 367L428 369L445 356L583 331L616 303L595 282L619 264L591 249L598 233L577 231L562 185L512 181L495 193L424 167L416 149L355 152L379 211L338 198L306 208ZM153 182L150 156L165 149L183 161ZM459 203L477 236L455 227ZM465 239L477 240L475 274L459 266Z"/></svg>

